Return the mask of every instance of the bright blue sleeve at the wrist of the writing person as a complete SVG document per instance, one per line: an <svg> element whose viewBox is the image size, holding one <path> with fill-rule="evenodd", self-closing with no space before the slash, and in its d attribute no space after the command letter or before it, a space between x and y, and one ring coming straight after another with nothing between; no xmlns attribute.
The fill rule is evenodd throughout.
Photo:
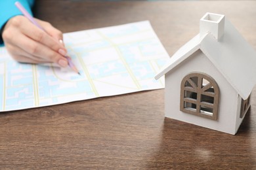
<svg viewBox="0 0 256 170"><path fill-rule="evenodd" d="M3 29L3 26L5 23L16 15L21 15L22 12L17 9L17 7L14 5L14 3L17 0L0 0L0 30ZM18 0L30 14L32 14L32 6L34 3L34 0ZM2 35L0 35L0 46L3 46L3 39Z"/></svg>

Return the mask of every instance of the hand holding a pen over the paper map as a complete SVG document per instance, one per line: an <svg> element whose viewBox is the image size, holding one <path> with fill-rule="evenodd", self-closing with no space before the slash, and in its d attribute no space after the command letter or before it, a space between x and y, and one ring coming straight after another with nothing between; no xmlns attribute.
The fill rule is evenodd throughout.
<svg viewBox="0 0 256 170"><path fill-rule="evenodd" d="M12 58L22 63L68 65L62 32L48 22L35 19L45 31L24 16L14 16L3 29L3 41Z"/></svg>

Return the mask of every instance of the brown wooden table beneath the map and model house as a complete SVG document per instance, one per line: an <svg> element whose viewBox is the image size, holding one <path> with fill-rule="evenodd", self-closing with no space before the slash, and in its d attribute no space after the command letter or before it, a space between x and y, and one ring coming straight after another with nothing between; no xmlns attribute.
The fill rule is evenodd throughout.
<svg viewBox="0 0 256 170"><path fill-rule="evenodd" d="M35 16L65 32L150 20L170 56L225 14L256 49L256 1L41 0ZM256 63L255 63L256 65ZM0 114L1 169L255 169L256 98L236 135L164 116L164 90Z"/></svg>

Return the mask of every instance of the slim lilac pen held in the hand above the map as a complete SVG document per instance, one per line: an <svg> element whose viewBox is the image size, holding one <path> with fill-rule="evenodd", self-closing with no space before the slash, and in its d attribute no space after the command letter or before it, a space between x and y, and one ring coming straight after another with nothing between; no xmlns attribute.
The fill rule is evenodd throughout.
<svg viewBox="0 0 256 170"><path fill-rule="evenodd" d="M15 3L16 7L20 10L20 12L22 12L22 14L24 14L24 16L26 18L28 18L28 20L30 20L30 22L32 22L34 25L36 25L37 27L39 27L39 29L42 29L43 31L45 31L45 29L43 29L43 27L41 27L41 25L39 25L33 18L33 16L30 15L30 13L28 13L28 11L26 9L24 9L24 7L20 4L20 2L16 1ZM46 32L46 31L45 31ZM75 67L74 63L72 62L71 58L69 56L65 56L66 59L68 59L68 65L70 66L70 68L72 68L77 74L80 75L79 71L77 70L77 68Z"/></svg>

